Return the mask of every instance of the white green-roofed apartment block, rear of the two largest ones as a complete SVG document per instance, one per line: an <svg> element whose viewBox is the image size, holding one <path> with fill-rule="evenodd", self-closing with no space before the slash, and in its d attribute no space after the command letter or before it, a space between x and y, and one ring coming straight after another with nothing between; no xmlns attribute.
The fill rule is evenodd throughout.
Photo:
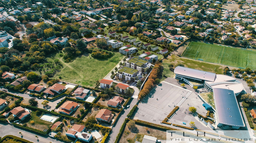
<svg viewBox="0 0 256 143"><path fill-rule="evenodd" d="M125 66L137 69L139 72L146 73L147 70L151 67L151 64L148 61L139 59L138 57L132 57L125 61Z"/></svg>

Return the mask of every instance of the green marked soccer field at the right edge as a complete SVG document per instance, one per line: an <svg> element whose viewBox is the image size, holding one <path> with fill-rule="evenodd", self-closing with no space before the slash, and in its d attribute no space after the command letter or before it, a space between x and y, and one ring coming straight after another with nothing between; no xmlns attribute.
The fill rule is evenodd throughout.
<svg viewBox="0 0 256 143"><path fill-rule="evenodd" d="M190 42L182 57L256 70L256 51Z"/></svg>

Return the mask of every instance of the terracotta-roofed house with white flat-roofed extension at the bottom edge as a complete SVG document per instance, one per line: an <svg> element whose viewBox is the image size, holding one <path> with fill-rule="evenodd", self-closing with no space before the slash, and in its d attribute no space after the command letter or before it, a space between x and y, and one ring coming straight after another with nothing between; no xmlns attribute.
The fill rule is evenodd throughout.
<svg viewBox="0 0 256 143"><path fill-rule="evenodd" d="M84 132L85 126L74 124L73 127L69 128L66 135L71 138L77 138L79 140L90 142L93 138L90 133Z"/></svg>

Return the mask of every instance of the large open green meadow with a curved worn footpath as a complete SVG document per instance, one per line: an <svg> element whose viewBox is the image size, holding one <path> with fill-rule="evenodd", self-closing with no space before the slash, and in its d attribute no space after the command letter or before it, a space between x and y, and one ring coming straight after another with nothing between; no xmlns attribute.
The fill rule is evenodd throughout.
<svg viewBox="0 0 256 143"><path fill-rule="evenodd" d="M62 57L56 54L55 58L62 62L63 68L55 74L54 78L61 77L63 81L94 87L95 82L104 78L124 57L125 55L115 52L113 57L99 60L86 53L71 63L64 63Z"/></svg>

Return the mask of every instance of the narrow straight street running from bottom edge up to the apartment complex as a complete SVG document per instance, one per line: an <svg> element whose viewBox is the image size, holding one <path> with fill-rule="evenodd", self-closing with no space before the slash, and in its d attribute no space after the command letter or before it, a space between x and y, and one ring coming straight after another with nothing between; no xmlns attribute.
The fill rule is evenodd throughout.
<svg viewBox="0 0 256 143"><path fill-rule="evenodd" d="M113 126L112 131L110 132L110 135L107 139L108 143L115 142L116 136L119 133L120 128L123 125L125 118L127 117L127 114L131 111L132 107L136 105L137 102L138 100L136 98L131 98L130 104L128 104L130 105L130 108L124 108L123 112L120 113L121 116L119 117L118 122L116 122L116 124Z"/></svg>

